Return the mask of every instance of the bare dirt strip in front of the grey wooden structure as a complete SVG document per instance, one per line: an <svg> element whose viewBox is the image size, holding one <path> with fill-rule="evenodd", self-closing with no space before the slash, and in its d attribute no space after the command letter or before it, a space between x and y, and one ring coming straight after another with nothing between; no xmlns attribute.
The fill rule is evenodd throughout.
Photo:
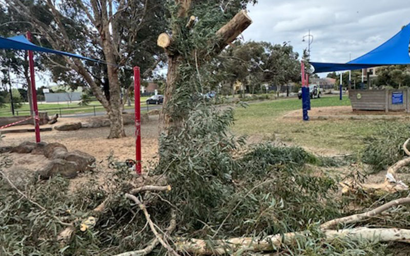
<svg viewBox="0 0 410 256"><path fill-rule="evenodd" d="M343 116L343 115L389 115L389 116L410 116L410 114L405 113L404 111L353 111L352 106L324 106L321 108L312 108L309 111L309 116ZM295 110L286 114L287 117L302 117L301 110Z"/></svg>

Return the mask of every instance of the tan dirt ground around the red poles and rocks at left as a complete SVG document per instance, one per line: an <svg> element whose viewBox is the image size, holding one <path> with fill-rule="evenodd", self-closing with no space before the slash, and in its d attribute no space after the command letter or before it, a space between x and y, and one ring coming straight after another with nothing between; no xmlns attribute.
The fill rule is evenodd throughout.
<svg viewBox="0 0 410 256"><path fill-rule="evenodd" d="M60 118L55 125L63 122L84 121L86 119ZM42 125L41 127L52 126ZM19 125L12 129L32 129L32 125ZM98 171L98 182L103 182L112 169L108 168L107 158L112 153L118 161L135 159L135 126L126 125L127 137L121 139L107 139L109 127L80 129L77 131L56 131L42 132L42 141L47 143L59 142L64 144L68 151L80 150L96 158L96 170ZM0 140L0 146L16 146L23 141L35 142L34 133L7 133ZM146 172L148 166L156 161L158 152L158 116L150 116L148 122L141 124L141 150L142 150L142 172ZM22 166L33 171L46 165L49 160L44 156L31 154L8 154L13 165ZM92 173L80 174L70 182L71 188L82 186L87 183ZM95 176L94 176L95 177Z"/></svg>

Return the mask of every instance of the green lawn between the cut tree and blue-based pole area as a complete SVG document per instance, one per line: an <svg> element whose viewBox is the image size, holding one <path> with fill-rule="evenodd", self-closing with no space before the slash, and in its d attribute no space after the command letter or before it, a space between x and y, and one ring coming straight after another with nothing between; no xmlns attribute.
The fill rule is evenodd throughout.
<svg viewBox="0 0 410 256"><path fill-rule="evenodd" d="M249 104L235 110L233 131L238 135L262 136L320 151L355 153L363 147L363 138L375 133L383 120L323 120L302 121L283 119L289 111L301 110L299 99L280 99ZM350 105L344 96L323 97L311 100L312 108L319 106ZM389 121L392 122L392 121ZM396 121L393 121L396 122ZM399 122L399 121L397 121Z"/></svg>

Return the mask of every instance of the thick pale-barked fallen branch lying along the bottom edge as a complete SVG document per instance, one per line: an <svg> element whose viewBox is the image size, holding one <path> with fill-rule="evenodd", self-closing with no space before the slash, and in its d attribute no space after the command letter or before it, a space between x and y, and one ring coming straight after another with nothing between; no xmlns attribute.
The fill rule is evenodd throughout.
<svg viewBox="0 0 410 256"><path fill-rule="evenodd" d="M298 237L309 237L309 231L290 232L267 236L260 240L252 237L231 238L226 240L206 241L201 239L179 240L177 250L187 251L195 255L223 255L237 251L258 252L275 251L284 244L296 242ZM323 230L325 241L336 238L348 238L351 241L369 240L374 242L406 242L410 241L410 229L399 228L348 228L340 230ZM210 248L210 244L214 246Z"/></svg>

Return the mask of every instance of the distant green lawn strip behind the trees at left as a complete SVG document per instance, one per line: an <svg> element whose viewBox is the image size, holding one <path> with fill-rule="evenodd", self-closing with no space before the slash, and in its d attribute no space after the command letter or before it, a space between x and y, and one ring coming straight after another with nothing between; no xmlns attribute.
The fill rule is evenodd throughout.
<svg viewBox="0 0 410 256"><path fill-rule="evenodd" d="M144 110L147 106L146 100L148 97L141 97L141 110ZM6 103L5 108L0 109L0 117L12 116L10 111L10 104ZM76 114L76 113L92 113L94 112L94 106L96 112L105 111L103 105L101 105L98 101L91 101L87 106L78 105L77 102L67 103L67 102L60 102L60 103L43 103L38 102L38 110L39 111L47 111L48 115L54 115L56 113L63 114ZM134 109L134 101L131 102L131 106L125 105L125 109ZM15 113L19 116L26 116L29 115L30 106L26 102L20 108L15 109ZM60 112L61 110L61 112Z"/></svg>

